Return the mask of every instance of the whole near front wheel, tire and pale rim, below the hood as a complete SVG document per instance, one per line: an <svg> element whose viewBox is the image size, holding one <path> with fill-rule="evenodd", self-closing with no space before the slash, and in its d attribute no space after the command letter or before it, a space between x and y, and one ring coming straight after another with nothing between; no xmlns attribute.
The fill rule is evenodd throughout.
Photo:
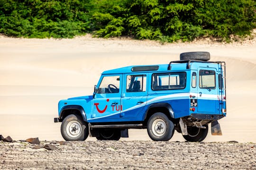
<svg viewBox="0 0 256 170"><path fill-rule="evenodd" d="M66 141L84 141L89 135L88 123L79 115L68 115L61 124L61 135Z"/></svg>

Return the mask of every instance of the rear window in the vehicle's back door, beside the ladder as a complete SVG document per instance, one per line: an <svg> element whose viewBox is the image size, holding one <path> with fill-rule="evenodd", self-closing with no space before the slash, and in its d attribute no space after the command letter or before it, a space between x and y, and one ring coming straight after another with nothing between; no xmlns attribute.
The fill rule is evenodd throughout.
<svg viewBox="0 0 256 170"><path fill-rule="evenodd" d="M199 87L207 89L215 89L215 71L200 70L199 71Z"/></svg>

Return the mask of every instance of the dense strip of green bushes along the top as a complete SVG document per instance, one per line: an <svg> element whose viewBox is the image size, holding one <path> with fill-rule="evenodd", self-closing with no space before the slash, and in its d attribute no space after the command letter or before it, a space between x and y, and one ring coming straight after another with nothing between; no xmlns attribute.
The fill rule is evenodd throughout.
<svg viewBox="0 0 256 170"><path fill-rule="evenodd" d="M255 0L0 0L0 33L13 37L229 41L254 28Z"/></svg>

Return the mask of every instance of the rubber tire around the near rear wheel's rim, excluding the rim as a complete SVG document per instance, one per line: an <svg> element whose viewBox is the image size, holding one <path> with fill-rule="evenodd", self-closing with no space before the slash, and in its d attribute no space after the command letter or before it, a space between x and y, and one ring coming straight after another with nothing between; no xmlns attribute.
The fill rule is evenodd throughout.
<svg viewBox="0 0 256 170"><path fill-rule="evenodd" d="M153 133L152 125L156 119L162 119L165 122L166 131L162 136L155 136L155 134ZM147 133L148 136L154 141L168 141L174 135L174 123L171 120L169 120L164 113L155 113L148 119Z"/></svg>

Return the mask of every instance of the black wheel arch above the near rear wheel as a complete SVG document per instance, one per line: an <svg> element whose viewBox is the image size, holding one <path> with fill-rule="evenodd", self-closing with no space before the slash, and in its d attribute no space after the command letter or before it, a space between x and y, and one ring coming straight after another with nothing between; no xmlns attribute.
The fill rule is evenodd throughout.
<svg viewBox="0 0 256 170"><path fill-rule="evenodd" d="M152 103L148 106L144 120L149 119L156 112L164 113L169 119L174 119L174 110L169 103Z"/></svg>

